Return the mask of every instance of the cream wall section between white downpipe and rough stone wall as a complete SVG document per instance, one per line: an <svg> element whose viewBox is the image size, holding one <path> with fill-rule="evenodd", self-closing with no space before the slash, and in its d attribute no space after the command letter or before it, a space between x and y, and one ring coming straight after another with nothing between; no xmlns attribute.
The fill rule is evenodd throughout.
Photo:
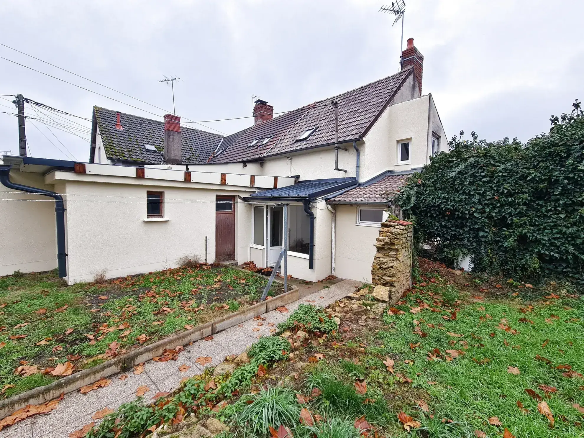
<svg viewBox="0 0 584 438"><path fill-rule="evenodd" d="M371 265L379 235L378 227L357 225L356 206L335 206L336 255L335 273L343 279L371 283Z"/></svg>

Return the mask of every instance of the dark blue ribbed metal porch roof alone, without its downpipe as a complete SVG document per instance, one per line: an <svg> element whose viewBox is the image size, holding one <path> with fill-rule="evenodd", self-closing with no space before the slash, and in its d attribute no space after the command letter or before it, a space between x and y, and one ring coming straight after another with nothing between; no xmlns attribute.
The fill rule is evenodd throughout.
<svg viewBox="0 0 584 438"><path fill-rule="evenodd" d="M273 200L302 201L304 199L315 199L354 186L355 182L354 178L311 179L300 181L293 186L253 193L246 197L245 200L253 202Z"/></svg>

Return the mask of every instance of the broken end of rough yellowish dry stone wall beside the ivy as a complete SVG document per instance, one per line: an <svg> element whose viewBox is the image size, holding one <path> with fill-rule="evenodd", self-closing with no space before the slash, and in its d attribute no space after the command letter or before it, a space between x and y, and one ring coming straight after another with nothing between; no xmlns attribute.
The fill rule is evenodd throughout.
<svg viewBox="0 0 584 438"><path fill-rule="evenodd" d="M411 222L388 220L381 224L371 267L371 277L376 285L373 296L378 300L396 303L409 289L412 235Z"/></svg>

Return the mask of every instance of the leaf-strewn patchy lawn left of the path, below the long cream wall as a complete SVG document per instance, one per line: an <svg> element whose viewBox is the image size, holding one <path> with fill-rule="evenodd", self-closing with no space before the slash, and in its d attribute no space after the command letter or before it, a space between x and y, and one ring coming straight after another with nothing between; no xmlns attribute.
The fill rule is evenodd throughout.
<svg viewBox="0 0 584 438"><path fill-rule="evenodd" d="M67 286L56 272L0 277L0 397L252 304L267 279L223 265ZM272 296L283 291L274 282ZM57 367L57 370L55 370Z"/></svg>

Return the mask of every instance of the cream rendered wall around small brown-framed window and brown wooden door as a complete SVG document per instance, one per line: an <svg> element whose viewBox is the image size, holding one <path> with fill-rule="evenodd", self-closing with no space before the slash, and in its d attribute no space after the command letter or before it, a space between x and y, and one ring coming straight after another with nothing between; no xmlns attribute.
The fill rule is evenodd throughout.
<svg viewBox="0 0 584 438"><path fill-rule="evenodd" d="M186 254L202 260L205 237L208 262L214 261L217 191L75 181L66 185L69 284L91 281L103 269L112 278L175 267ZM147 190L164 192L168 221L144 221ZM237 203L236 227L245 234L249 212L238 211L240 207ZM245 235L236 237L236 245L242 257Z"/></svg>

